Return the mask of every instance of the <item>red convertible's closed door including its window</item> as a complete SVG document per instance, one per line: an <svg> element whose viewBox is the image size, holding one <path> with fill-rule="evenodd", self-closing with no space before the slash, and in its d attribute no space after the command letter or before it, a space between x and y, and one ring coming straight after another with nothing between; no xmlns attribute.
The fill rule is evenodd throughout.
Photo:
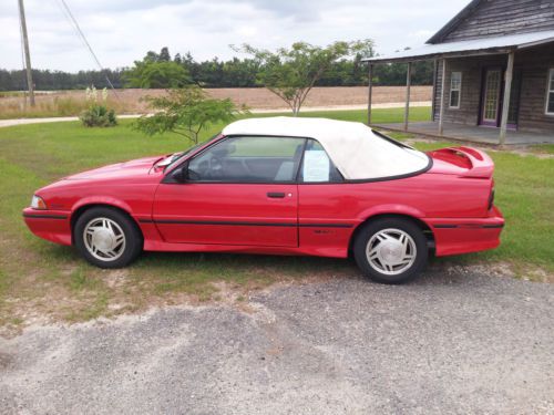
<svg viewBox="0 0 554 415"><path fill-rule="evenodd" d="M225 137L158 186L153 219L168 242L298 246L304 138ZM172 181L172 180L164 180Z"/></svg>

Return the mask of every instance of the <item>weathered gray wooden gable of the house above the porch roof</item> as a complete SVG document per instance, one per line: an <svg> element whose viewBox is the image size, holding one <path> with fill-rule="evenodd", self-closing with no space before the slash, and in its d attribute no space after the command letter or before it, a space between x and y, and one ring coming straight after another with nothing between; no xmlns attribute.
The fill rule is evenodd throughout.
<svg viewBox="0 0 554 415"><path fill-rule="evenodd" d="M484 0L442 42L554 30L554 0Z"/></svg>

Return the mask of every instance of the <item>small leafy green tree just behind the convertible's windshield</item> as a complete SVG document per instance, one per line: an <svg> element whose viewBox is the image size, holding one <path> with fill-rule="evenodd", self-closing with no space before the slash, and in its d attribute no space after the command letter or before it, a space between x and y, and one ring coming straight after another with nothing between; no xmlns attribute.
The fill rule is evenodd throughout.
<svg viewBox="0 0 554 415"><path fill-rule="evenodd" d="M167 91L161 97L146 97L154 115L141 116L134 127L147 135L173 132L198 144L198 134L211 124L229 122L236 115L246 112L246 107L237 107L233 101L208 97L206 92L196 85Z"/></svg>

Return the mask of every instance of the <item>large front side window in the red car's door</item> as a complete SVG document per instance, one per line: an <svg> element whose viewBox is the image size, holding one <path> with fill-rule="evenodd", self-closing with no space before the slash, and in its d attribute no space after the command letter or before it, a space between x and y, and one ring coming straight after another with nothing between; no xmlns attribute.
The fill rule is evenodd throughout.
<svg viewBox="0 0 554 415"><path fill-rule="evenodd" d="M188 163L188 180L294 183L305 142L293 137L228 137Z"/></svg>

